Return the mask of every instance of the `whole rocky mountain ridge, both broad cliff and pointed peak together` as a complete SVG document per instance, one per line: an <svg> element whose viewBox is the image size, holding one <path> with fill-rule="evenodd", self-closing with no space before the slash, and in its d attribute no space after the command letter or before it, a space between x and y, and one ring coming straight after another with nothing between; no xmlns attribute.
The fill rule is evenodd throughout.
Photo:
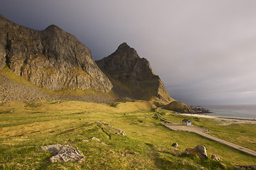
<svg viewBox="0 0 256 170"><path fill-rule="evenodd" d="M100 61L95 62L86 45L58 26L33 30L0 14L0 68L7 65L31 84L52 91L92 89L114 91L115 98L174 101L149 62L126 42Z"/></svg>

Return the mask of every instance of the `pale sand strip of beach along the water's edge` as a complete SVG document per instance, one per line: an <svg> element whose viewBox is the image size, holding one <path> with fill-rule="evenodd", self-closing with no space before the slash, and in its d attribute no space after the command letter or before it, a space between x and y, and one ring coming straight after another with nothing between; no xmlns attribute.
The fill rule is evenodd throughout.
<svg viewBox="0 0 256 170"><path fill-rule="evenodd" d="M245 120L245 119L240 119L240 118L222 118L222 117L218 117L218 116L203 115L203 114L188 114L188 113L178 113L178 114L188 115L188 116L193 116L193 117L198 117L198 118L213 118L213 119L217 119L217 120L225 120L226 123L223 123L224 125L238 124L238 123L256 124L256 120Z"/></svg>

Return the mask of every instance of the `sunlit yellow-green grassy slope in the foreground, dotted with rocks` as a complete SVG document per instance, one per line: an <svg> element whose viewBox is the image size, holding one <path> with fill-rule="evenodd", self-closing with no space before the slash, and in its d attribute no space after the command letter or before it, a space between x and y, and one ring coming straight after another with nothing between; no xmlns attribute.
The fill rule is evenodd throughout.
<svg viewBox="0 0 256 170"><path fill-rule="evenodd" d="M255 158L188 132L174 132L159 125L149 101L117 103L112 106L82 101L35 101L0 103L1 169L233 169L255 164ZM162 111L174 121L183 117ZM127 135L116 135L97 121L109 123ZM205 121L198 120L198 125ZM220 125L211 125L216 128ZM227 126L220 126L225 128ZM243 125L247 129L255 128ZM221 129L221 128L218 128ZM232 128L229 128L233 132ZM227 131L228 131L227 130ZM216 131L218 133L218 131ZM225 130L220 135L225 135ZM227 135L228 136L228 135ZM97 137L100 142L83 142ZM75 142L68 142L69 139ZM171 147L178 142L179 148ZM249 145L250 141L244 143ZM78 147L85 161L50 163L50 152L38 147L52 144ZM187 147L206 146L223 162L201 160L182 154Z"/></svg>

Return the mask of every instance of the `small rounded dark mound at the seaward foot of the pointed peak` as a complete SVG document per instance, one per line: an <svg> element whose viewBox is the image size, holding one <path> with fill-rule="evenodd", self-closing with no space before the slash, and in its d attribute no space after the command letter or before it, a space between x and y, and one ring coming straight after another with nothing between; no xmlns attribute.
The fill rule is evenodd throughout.
<svg viewBox="0 0 256 170"><path fill-rule="evenodd" d="M179 113L193 113L193 110L191 109L190 106L187 106L186 104L178 101L172 101L171 103L164 106L164 108Z"/></svg>

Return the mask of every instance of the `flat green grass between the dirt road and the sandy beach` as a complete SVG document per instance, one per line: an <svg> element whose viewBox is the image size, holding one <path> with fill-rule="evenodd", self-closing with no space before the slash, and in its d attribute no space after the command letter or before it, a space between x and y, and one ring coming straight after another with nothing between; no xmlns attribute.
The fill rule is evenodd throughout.
<svg viewBox="0 0 256 170"><path fill-rule="evenodd" d="M235 124L236 121L233 120L197 118L187 115L177 116L174 112L166 110L160 110L160 113L164 118L174 123L181 123L184 118L190 119L193 125L210 130L210 135L214 137L256 151L255 124Z"/></svg>

